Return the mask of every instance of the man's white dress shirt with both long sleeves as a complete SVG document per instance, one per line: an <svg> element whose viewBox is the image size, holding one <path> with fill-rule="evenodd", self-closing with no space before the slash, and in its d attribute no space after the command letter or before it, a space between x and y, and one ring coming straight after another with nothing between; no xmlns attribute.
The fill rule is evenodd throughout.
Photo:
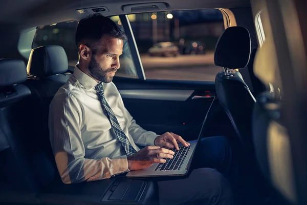
<svg viewBox="0 0 307 205"><path fill-rule="evenodd" d="M50 104L50 141L64 183L100 180L129 171L126 152L101 107L96 85L96 80L76 66ZM103 87L131 145L137 151L137 145L155 146L158 135L136 124L114 83Z"/></svg>

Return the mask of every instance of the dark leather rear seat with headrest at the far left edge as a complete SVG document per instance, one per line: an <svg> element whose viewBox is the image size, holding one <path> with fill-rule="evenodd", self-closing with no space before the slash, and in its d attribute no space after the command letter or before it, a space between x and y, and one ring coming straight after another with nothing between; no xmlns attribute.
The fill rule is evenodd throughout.
<svg viewBox="0 0 307 205"><path fill-rule="evenodd" d="M157 182L124 175L64 185L51 152L43 102L19 84L26 79L22 60L0 59L0 204L159 203Z"/></svg>

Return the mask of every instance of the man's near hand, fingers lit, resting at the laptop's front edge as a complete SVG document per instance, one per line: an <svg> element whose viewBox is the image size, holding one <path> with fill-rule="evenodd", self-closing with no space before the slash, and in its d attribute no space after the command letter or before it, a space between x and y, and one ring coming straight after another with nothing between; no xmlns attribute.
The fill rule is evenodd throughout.
<svg viewBox="0 0 307 205"><path fill-rule="evenodd" d="M165 163L165 159L173 158L174 152L157 146L148 146L136 154L127 156L129 170L142 170L150 167L153 163Z"/></svg>

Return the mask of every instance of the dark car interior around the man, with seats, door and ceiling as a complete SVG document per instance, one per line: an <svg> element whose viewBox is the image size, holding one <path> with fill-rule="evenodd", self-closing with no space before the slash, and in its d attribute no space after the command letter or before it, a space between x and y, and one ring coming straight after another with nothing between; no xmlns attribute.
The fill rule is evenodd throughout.
<svg viewBox="0 0 307 205"><path fill-rule="evenodd" d="M119 16L127 33L137 77L115 76L113 82L141 127L193 140L208 112L202 137L226 136L244 165L240 175L253 187L246 190L237 182L234 204L252 204L253 197L253 204L307 204L306 2L4 0L0 5L0 204L159 204L157 181L174 179L118 175L65 185L59 177L49 141L49 105L74 68L62 46L38 47L33 40L41 25L93 13ZM196 9L223 15L215 81L146 78L128 15Z"/></svg>

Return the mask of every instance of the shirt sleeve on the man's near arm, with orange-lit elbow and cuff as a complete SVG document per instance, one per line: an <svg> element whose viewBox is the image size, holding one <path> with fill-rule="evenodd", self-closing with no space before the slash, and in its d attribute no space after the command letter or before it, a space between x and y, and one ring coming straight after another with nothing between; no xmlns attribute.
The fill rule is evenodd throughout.
<svg viewBox="0 0 307 205"><path fill-rule="evenodd" d="M72 94L59 94L49 110L50 141L63 183L110 178L128 170L127 157L85 158L81 138L81 107Z"/></svg>

